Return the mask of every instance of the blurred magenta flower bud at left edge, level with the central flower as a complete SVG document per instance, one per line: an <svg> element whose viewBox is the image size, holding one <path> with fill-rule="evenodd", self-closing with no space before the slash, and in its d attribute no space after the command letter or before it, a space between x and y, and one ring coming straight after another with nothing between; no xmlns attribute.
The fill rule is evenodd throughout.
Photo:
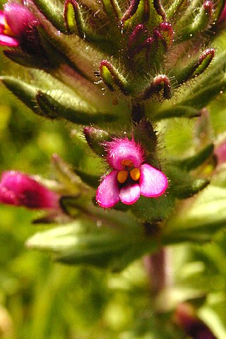
<svg viewBox="0 0 226 339"><path fill-rule="evenodd" d="M59 208L59 196L26 174L3 172L0 203L28 208Z"/></svg>

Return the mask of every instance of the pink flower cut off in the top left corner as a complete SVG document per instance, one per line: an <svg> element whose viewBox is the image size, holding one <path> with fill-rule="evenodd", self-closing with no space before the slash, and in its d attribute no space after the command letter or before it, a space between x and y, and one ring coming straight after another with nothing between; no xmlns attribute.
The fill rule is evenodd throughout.
<svg viewBox="0 0 226 339"><path fill-rule="evenodd" d="M0 44L17 47L26 40L32 40L37 18L27 7L16 2L8 2L0 11ZM31 41L30 41L31 42Z"/></svg>

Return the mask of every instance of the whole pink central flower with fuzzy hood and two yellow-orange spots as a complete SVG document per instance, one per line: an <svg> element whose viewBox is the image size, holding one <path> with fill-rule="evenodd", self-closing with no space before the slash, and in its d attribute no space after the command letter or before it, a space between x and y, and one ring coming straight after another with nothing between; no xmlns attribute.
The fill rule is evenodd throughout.
<svg viewBox="0 0 226 339"><path fill-rule="evenodd" d="M140 195L161 196L168 186L167 177L158 169L144 163L144 151L133 139L115 138L105 143L107 162L112 172L97 188L96 200L103 208L113 207L121 201L136 203Z"/></svg>

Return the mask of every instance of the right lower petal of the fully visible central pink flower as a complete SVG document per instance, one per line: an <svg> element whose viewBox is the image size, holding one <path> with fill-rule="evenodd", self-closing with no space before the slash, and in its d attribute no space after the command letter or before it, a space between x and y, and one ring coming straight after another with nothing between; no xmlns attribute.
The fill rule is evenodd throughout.
<svg viewBox="0 0 226 339"><path fill-rule="evenodd" d="M149 197L161 196L168 186L165 174L148 164L141 165L140 171L141 195Z"/></svg>

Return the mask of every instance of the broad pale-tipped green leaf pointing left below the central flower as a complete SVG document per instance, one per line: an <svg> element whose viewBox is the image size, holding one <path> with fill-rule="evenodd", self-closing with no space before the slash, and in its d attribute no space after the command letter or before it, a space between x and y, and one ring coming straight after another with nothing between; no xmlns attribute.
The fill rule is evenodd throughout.
<svg viewBox="0 0 226 339"><path fill-rule="evenodd" d="M125 232L126 231L126 232ZM141 230L116 230L97 227L85 220L37 233L27 241L30 249L50 251L62 263L88 264L121 270L147 251L155 251L157 244L145 239Z"/></svg>

